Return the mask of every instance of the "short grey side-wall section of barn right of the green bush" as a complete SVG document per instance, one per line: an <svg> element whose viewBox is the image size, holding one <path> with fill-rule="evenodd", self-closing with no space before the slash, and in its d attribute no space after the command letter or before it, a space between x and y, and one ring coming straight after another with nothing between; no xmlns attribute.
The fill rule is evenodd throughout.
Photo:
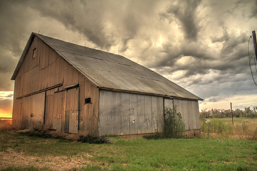
<svg viewBox="0 0 257 171"><path fill-rule="evenodd" d="M181 113L185 130L199 130L201 125L198 101L174 98L173 102L177 106L177 111Z"/></svg>

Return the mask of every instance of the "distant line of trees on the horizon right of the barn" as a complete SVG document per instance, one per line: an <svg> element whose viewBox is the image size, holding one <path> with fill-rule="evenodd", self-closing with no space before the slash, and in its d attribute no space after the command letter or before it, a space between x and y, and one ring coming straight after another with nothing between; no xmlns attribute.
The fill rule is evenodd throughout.
<svg viewBox="0 0 257 171"><path fill-rule="evenodd" d="M240 110L239 108L236 108L235 110L232 110L233 117L250 117L250 118L256 118L257 117L257 106L252 107L245 107L244 110ZM200 112L200 118L228 118L232 117L231 110L230 109L211 109L207 110L207 108L201 110Z"/></svg>

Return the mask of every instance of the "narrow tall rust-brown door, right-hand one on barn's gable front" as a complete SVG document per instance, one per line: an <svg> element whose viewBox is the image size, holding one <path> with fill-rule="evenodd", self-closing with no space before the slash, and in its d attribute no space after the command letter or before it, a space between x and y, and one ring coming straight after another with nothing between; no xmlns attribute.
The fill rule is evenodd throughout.
<svg viewBox="0 0 257 171"><path fill-rule="evenodd" d="M78 133L79 124L79 88L65 91L64 132Z"/></svg>

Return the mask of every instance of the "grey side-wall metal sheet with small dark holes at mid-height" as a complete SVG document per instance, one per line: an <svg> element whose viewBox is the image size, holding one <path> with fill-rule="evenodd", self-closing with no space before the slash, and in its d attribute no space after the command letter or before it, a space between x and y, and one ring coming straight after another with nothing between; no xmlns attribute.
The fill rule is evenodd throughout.
<svg viewBox="0 0 257 171"><path fill-rule="evenodd" d="M137 130L137 94L129 94L129 134L138 134Z"/></svg>

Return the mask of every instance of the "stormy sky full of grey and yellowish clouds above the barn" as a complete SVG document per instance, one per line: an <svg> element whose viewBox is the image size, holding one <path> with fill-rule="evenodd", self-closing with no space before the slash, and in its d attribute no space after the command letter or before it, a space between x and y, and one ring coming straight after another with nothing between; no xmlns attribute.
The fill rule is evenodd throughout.
<svg viewBox="0 0 257 171"><path fill-rule="evenodd" d="M0 114L12 110L11 76L31 32L39 30L148 67L203 98L200 110L230 108L230 102L257 106L248 57L256 0L2 0L0 21ZM252 39L249 51L252 56ZM254 57L251 64L257 82Z"/></svg>

